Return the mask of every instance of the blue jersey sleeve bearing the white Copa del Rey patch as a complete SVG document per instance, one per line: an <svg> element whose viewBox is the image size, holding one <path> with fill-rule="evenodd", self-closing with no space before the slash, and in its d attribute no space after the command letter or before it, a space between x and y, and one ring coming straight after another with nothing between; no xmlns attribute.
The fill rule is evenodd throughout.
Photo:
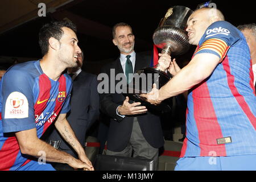
<svg viewBox="0 0 256 182"><path fill-rule="evenodd" d="M10 69L2 78L3 133L30 130L36 127L33 79L24 71Z"/></svg>

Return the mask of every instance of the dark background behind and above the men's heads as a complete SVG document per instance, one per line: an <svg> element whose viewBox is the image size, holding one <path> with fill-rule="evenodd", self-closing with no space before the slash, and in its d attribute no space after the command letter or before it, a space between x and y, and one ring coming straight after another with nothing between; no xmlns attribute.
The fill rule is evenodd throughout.
<svg viewBox="0 0 256 182"><path fill-rule="evenodd" d="M22 1L22 0L21 0ZM46 17L38 17L18 27L0 34L0 57L28 57L40 59L38 32L44 23L67 17L77 24L79 46L85 52L85 67L88 72L98 73L103 64L113 61L119 51L112 43L112 26L126 22L133 27L135 51L150 54L152 34L161 18L171 6L183 5L195 10L205 1L73 1L60 7ZM255 7L252 1L212 1L225 15L225 19L234 26L255 23ZM23 7L20 7L22 9ZM6 7L11 11L11 7ZM2 17L4 18L4 17ZM183 56L177 57L178 63L190 60L195 47ZM0 59L2 63L3 59ZM19 60L26 61L26 60ZM0 62L1 63L1 62Z"/></svg>

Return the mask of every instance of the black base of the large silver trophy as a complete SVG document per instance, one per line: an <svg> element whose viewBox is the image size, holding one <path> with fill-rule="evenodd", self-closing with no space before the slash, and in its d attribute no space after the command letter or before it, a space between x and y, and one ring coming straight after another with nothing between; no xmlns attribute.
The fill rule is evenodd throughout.
<svg viewBox="0 0 256 182"><path fill-rule="evenodd" d="M141 105L148 109L158 110L161 112L170 112L172 110L172 98L168 98L159 105L152 105L146 101L146 98L141 97L142 93L149 93L152 90L152 85L155 83L159 89L171 79L165 72L155 68L139 69L135 72L133 81L123 88L123 95L128 96L135 102L141 102Z"/></svg>

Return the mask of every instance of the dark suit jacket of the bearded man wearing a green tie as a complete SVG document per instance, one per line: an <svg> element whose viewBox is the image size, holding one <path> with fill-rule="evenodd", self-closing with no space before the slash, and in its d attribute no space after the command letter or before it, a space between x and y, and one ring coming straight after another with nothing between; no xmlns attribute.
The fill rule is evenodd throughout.
<svg viewBox="0 0 256 182"><path fill-rule="evenodd" d="M150 57L142 56L136 53L135 71L141 68L150 67ZM110 69L115 69L115 75L123 73L122 65L119 58L112 64L108 64L102 68L102 73L106 73L110 77ZM119 81L115 81L115 85ZM109 88L110 89L110 88ZM110 126L108 134L107 147L111 151L122 151L129 142L131 131L133 129L133 117L119 117L116 109L123 104L125 97L118 93L103 93L100 94L100 109L103 113L109 115ZM147 142L155 148L162 147L164 144L163 132L158 115L152 114L149 111L146 114L136 115L142 134Z"/></svg>

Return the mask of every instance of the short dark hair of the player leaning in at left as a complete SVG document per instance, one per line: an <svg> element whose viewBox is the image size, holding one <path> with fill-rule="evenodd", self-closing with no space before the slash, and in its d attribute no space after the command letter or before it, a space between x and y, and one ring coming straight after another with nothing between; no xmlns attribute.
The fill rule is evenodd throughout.
<svg viewBox="0 0 256 182"><path fill-rule="evenodd" d="M76 32L76 25L67 21L54 21L47 24L40 29L39 32L39 46L42 55L46 55L49 50L49 38L60 40L64 32L61 28L67 27Z"/></svg>

